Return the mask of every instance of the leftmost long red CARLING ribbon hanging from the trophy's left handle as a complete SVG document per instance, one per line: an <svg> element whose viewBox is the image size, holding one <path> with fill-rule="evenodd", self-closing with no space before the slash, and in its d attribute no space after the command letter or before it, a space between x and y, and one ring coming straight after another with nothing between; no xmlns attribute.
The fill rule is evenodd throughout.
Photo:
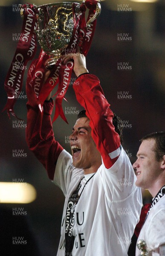
<svg viewBox="0 0 165 256"><path fill-rule="evenodd" d="M14 113L14 104L17 100L17 96L22 90L23 74L25 72L25 66L29 60L32 60L35 56L37 49L36 35L34 33L35 27L37 28L36 12L33 5L23 5L25 12L23 14L23 26L20 40L17 44L17 49L10 65L8 74L5 79L5 90L8 96L4 110L7 110L10 118L10 113L16 116Z"/></svg>

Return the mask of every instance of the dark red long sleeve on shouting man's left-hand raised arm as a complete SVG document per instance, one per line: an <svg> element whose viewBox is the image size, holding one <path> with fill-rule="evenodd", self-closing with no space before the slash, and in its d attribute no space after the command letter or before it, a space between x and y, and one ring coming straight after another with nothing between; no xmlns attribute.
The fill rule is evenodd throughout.
<svg viewBox="0 0 165 256"><path fill-rule="evenodd" d="M26 128L26 141L29 149L46 168L51 180L53 180L55 174L55 165L58 157L63 150L63 147L55 140L52 130L50 115L53 105L53 101L45 102L43 104L43 115L41 115L41 110L37 102L36 106L33 106L33 108L29 102L27 102L28 113ZM36 129L36 127L38 129Z"/></svg>

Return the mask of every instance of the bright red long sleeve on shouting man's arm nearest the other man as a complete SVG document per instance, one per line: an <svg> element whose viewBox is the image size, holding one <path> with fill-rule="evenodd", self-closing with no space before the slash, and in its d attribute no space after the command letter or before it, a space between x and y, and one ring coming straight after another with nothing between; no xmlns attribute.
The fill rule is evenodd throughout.
<svg viewBox="0 0 165 256"><path fill-rule="evenodd" d="M79 86L77 83L79 81ZM100 81L94 75L84 74L73 84L78 102L86 110L92 128L92 137L103 158L105 167L108 169L116 162L117 158L111 159L109 153L120 146L119 134L113 126L113 112L110 104L104 97Z"/></svg>

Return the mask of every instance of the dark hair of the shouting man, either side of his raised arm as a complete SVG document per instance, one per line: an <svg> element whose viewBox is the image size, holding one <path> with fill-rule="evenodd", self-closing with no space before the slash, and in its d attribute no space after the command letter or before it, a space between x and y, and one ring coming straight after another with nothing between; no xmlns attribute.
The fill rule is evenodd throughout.
<svg viewBox="0 0 165 256"><path fill-rule="evenodd" d="M123 127L122 125L118 125L118 123L121 123L121 119L119 116L116 116L115 113L113 113L113 125L115 127L115 131L119 134L119 137L120 137L120 143L122 145L123 143ZM78 116L78 118L81 118L81 117L87 117L86 116L86 110L82 110Z"/></svg>

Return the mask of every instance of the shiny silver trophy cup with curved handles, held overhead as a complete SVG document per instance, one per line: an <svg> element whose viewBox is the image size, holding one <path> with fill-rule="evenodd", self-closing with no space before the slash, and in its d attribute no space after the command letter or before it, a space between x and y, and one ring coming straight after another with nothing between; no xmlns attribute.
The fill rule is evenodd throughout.
<svg viewBox="0 0 165 256"><path fill-rule="evenodd" d="M83 2L85 3L85 1ZM61 57L61 52L67 48L72 38L74 23L78 20L80 6L80 3L73 2L35 6L38 9L36 33L39 44L43 51L53 58L48 62L47 69L57 62ZM101 6L98 2L96 12L87 22L87 27L100 15L100 12ZM23 14L23 10L21 10L21 14Z"/></svg>

